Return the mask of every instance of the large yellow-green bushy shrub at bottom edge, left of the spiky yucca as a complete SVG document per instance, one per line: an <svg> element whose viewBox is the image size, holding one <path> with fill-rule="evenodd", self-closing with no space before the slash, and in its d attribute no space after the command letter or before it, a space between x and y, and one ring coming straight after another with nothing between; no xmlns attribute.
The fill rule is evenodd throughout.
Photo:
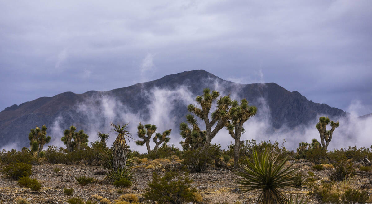
<svg viewBox="0 0 372 204"><path fill-rule="evenodd" d="M148 182L148 188L142 194L145 200L151 203L187 203L195 200L196 188L190 184L193 180L188 177L188 173L181 176L178 172L166 172L160 177L156 172L153 173L153 181Z"/></svg>

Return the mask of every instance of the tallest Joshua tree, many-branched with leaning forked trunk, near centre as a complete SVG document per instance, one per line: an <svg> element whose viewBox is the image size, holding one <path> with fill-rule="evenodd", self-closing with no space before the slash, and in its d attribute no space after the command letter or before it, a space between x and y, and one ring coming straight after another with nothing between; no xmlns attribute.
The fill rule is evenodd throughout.
<svg viewBox="0 0 372 204"><path fill-rule="evenodd" d="M211 145L211 141L216 136L217 132L221 130L225 124L227 123L228 119L228 109L231 106L231 98L230 96L222 96L217 101L217 110L212 112L211 116L212 119L209 120L209 111L211 110L212 102L217 100L219 96L218 91L212 91L205 88L203 90L203 95L196 96L195 101L198 103L198 105L201 106L201 108L198 108L197 106L190 104L187 106L187 110L191 113L194 113L196 116L198 116L200 119L202 119L205 123L205 143L203 145L202 151L205 151L209 148ZM212 130L212 127L215 126L215 128Z"/></svg>

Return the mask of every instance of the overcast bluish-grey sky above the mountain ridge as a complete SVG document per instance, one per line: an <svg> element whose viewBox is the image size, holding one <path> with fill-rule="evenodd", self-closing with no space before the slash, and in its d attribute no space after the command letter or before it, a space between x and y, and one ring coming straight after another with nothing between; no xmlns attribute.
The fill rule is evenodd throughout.
<svg viewBox="0 0 372 204"><path fill-rule="evenodd" d="M1 110L204 69L372 112L371 0L0 2Z"/></svg>

